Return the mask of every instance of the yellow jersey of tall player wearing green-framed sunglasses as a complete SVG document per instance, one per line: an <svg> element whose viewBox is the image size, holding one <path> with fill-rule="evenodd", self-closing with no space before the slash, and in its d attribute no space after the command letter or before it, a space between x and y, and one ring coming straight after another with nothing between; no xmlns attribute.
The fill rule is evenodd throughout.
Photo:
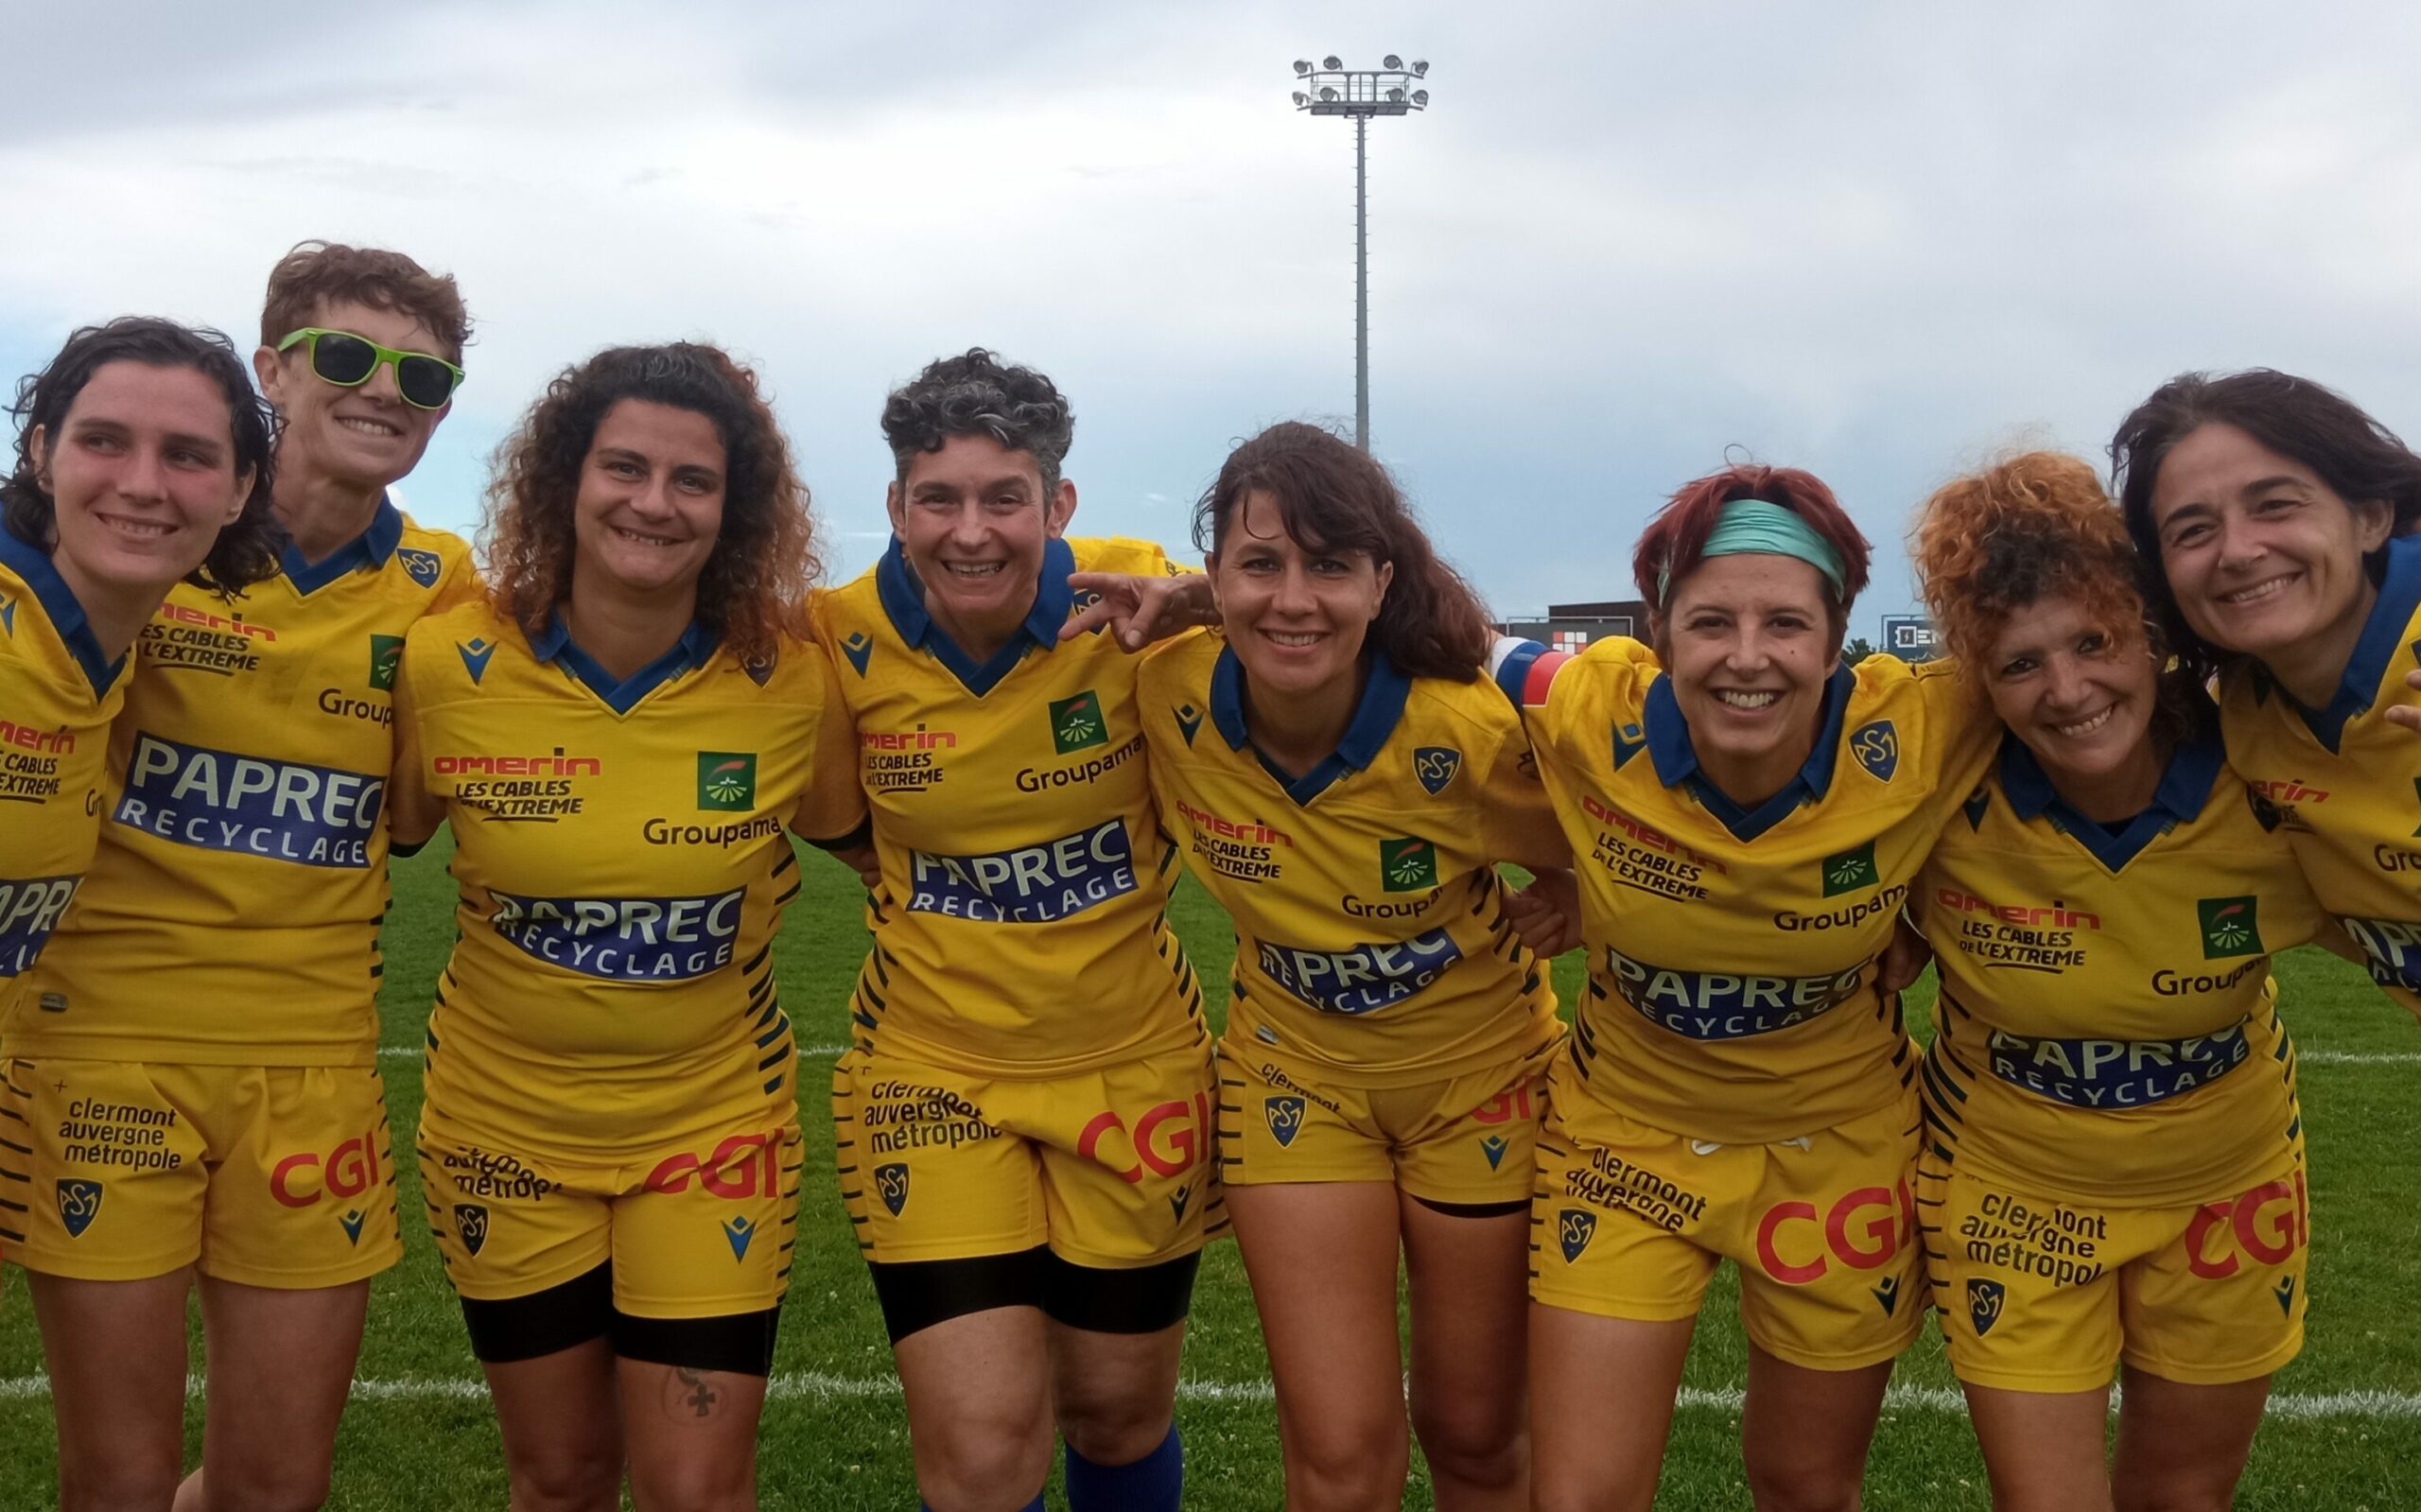
<svg viewBox="0 0 2421 1512"><path fill-rule="evenodd" d="M19 1055L373 1064L395 665L477 583L380 503L228 602L179 583L136 641L102 849L19 1014Z"/></svg>

